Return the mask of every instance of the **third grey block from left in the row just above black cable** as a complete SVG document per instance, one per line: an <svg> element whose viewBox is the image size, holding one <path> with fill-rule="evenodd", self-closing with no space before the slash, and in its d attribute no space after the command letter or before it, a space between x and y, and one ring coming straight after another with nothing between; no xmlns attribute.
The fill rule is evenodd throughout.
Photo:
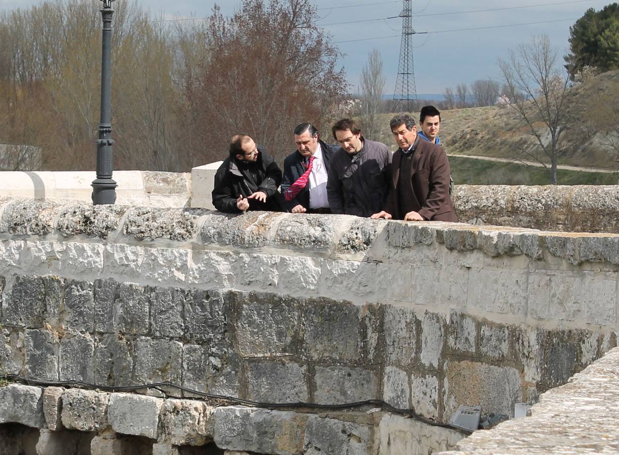
<svg viewBox="0 0 619 455"><path fill-rule="evenodd" d="M61 381L93 381L95 341L90 334L66 334L60 342L59 378Z"/></svg>

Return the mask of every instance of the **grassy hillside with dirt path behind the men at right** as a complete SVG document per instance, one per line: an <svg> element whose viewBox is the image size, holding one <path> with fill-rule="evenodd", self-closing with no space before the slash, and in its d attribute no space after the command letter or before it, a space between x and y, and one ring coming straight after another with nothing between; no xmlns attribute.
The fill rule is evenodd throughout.
<svg viewBox="0 0 619 455"><path fill-rule="evenodd" d="M602 132L597 131L595 123L587 122L595 110L592 100L615 103L619 105L619 71L611 71L574 87L568 98L568 115L566 130L560 139L560 157L558 164L575 167L601 168L619 170L615 162L616 153L600 142ZM392 114L381 116L379 137L372 139L382 141L395 149L389 119ZM415 118L418 114L415 113ZM526 124L511 108L485 106L481 108L455 109L441 112L441 141L449 154L480 155L498 158L533 159L519 151L514 144L527 145L535 150L535 142L528 134ZM545 126L537 124L543 132ZM547 184L547 171L543 168L527 167L517 163L480 163L479 160L450 158L455 175L461 176L457 183L528 183ZM550 162L545 160L547 164ZM559 170L560 184L617 184L613 174L584 173Z"/></svg>

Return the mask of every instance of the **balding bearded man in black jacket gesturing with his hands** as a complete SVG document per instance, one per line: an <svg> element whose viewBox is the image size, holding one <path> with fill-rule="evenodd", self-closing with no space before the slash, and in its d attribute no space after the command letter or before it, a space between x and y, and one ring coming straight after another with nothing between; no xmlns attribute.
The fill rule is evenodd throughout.
<svg viewBox="0 0 619 455"><path fill-rule="evenodd" d="M215 208L227 213L282 211L282 195L277 191L282 171L271 155L246 134L232 137L229 152L215 174Z"/></svg>

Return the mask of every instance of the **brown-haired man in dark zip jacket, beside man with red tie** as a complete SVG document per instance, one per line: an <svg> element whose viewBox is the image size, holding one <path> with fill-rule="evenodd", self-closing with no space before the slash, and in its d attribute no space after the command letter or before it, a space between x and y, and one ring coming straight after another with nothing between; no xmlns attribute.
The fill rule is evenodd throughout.
<svg viewBox="0 0 619 455"><path fill-rule="evenodd" d="M334 214L369 217L384 207L391 182L391 150L361 136L353 119L344 118L331 129L339 142L331 158L327 196Z"/></svg>

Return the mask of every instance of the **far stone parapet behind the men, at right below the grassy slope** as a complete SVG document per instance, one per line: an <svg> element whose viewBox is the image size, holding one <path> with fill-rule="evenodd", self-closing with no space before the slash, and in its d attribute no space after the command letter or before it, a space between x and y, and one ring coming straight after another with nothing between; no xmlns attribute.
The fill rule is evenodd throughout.
<svg viewBox="0 0 619 455"><path fill-rule="evenodd" d="M461 222L561 232L619 232L617 185L457 185Z"/></svg>

